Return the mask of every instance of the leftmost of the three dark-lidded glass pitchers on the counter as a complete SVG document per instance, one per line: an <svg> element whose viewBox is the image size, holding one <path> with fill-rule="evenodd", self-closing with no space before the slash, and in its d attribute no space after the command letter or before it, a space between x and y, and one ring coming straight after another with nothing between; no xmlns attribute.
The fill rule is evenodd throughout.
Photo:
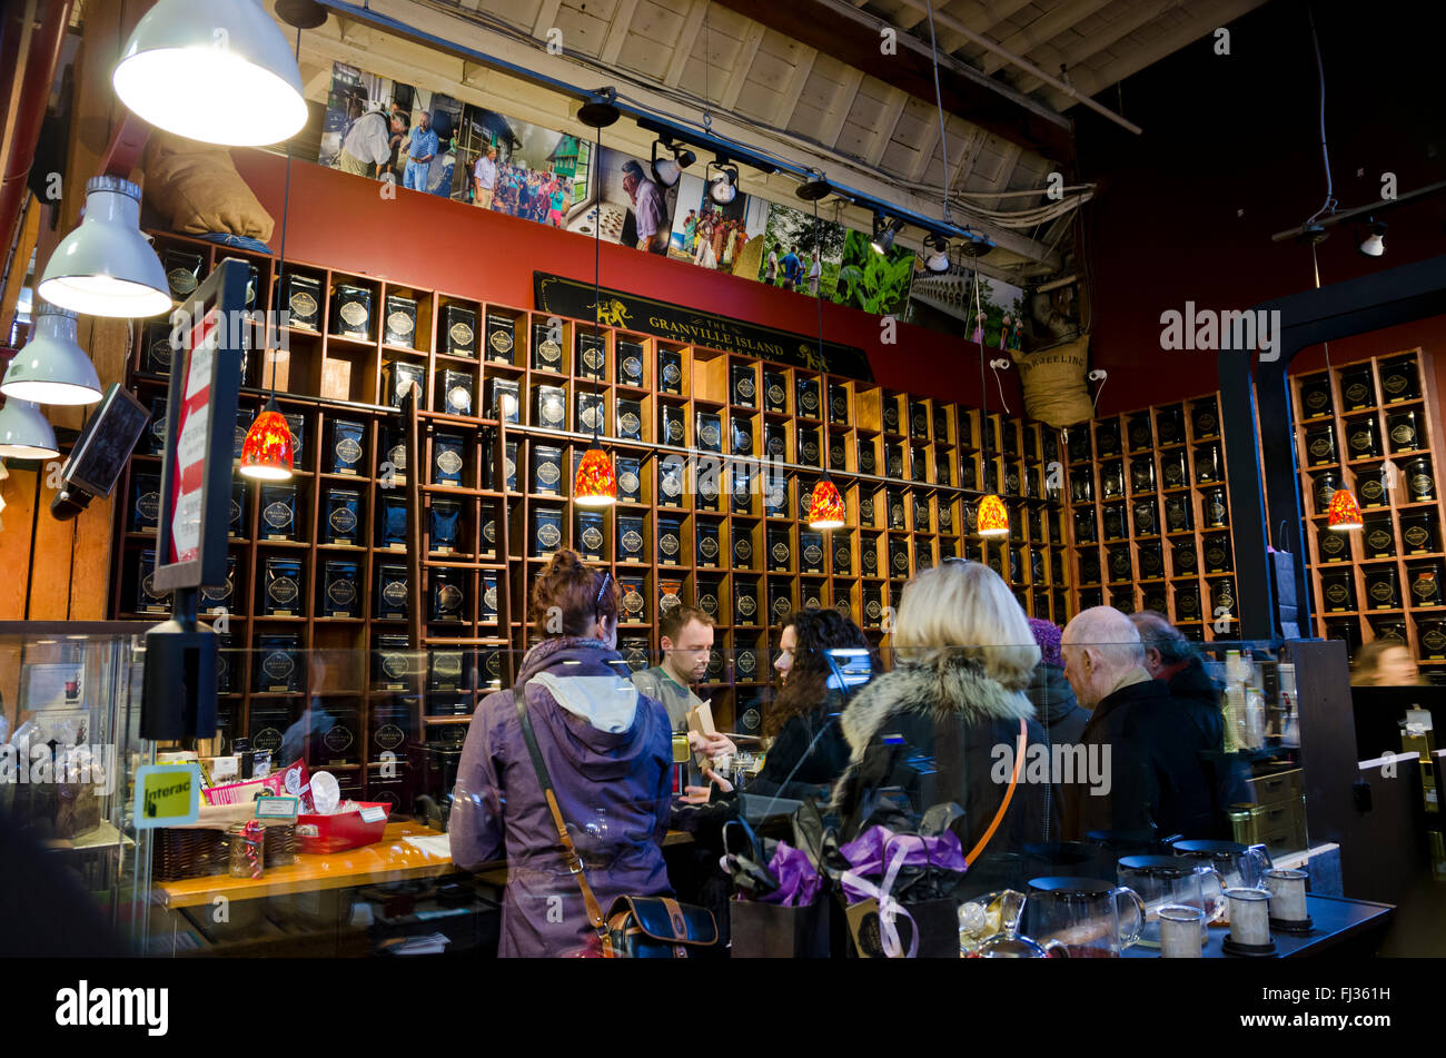
<svg viewBox="0 0 1446 1058"><path fill-rule="evenodd" d="M1145 903L1134 889L1098 879L1037 877L1025 918L1031 937L1063 945L1069 958L1119 958L1139 941Z"/></svg>

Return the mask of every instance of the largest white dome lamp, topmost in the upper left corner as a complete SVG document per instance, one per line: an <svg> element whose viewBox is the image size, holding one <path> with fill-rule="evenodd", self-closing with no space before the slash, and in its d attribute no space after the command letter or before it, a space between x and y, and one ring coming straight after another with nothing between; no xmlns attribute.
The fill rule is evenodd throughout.
<svg viewBox="0 0 1446 1058"><path fill-rule="evenodd" d="M257 147L307 124L301 71L260 0L159 0L111 82L146 121L202 143Z"/></svg>

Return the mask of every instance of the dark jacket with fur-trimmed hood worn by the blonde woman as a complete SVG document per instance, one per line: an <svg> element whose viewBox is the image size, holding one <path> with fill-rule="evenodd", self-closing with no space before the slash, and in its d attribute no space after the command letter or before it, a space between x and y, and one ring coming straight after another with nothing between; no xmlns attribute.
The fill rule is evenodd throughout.
<svg viewBox="0 0 1446 1058"><path fill-rule="evenodd" d="M849 767L831 809L840 841L869 825L918 830L934 805L959 805L950 828L973 850L1004 802L1008 767L1025 721L1030 744L1044 731L1022 691L1009 691L962 653L933 665L901 665L860 689L840 718ZM1008 747L1004 756L999 747ZM1028 752L1028 750L1027 750ZM1001 773L1004 780L999 780ZM1047 835L1047 783L1021 780L983 854L956 895L988 892L1008 877L1009 851Z"/></svg>

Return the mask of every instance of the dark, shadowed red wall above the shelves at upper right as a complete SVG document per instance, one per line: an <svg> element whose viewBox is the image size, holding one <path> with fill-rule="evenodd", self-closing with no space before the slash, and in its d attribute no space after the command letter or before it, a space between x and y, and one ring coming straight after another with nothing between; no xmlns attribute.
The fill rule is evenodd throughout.
<svg viewBox="0 0 1446 1058"><path fill-rule="evenodd" d="M1340 208L1446 179L1446 121L1429 35L1410 19L1374 19L1316 3L1326 71L1326 133ZM1093 280L1092 367L1109 371L1100 410L1115 412L1218 387L1213 353L1160 348L1160 314L1245 309L1313 286L1310 249L1274 243L1325 199L1320 97L1304 6L1271 3L1236 20L1232 55L1213 38L1126 81L1125 114L1141 137L1079 119L1082 172L1100 182L1086 207ZM1414 35L1414 39L1413 39ZM1115 93L1109 94L1116 103ZM1359 175L1358 175L1359 171ZM1398 207L1387 253L1356 251L1356 225L1317 247L1323 283L1446 253L1446 195ZM1423 345L1446 351L1446 319L1332 343L1333 363ZM1446 358L1446 357L1443 357ZM1293 370L1319 367L1319 348Z"/></svg>

